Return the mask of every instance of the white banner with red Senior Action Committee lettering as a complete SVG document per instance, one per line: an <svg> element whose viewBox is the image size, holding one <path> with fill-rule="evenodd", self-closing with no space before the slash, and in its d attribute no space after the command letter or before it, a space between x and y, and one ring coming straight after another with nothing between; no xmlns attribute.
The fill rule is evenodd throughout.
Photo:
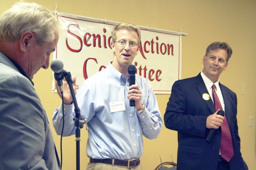
<svg viewBox="0 0 256 170"><path fill-rule="evenodd" d="M64 13L57 13L57 17L64 34L60 34L53 59L60 59L64 69L76 75L76 82L81 85L112 61L111 30L118 23ZM141 48L132 64L137 74L149 80L155 94L170 94L181 75L183 33L139 27ZM54 77L52 91L55 92Z"/></svg>

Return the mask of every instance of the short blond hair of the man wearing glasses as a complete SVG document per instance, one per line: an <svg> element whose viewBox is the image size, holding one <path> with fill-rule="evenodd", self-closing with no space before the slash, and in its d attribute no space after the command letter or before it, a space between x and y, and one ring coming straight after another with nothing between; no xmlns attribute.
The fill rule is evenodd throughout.
<svg viewBox="0 0 256 170"><path fill-rule="evenodd" d="M111 31L112 42L116 42L116 32L122 29L128 30L128 31L135 31L139 38L138 44L140 44L140 41L141 41L140 28L133 23L119 23L118 25L114 26L113 30Z"/></svg>

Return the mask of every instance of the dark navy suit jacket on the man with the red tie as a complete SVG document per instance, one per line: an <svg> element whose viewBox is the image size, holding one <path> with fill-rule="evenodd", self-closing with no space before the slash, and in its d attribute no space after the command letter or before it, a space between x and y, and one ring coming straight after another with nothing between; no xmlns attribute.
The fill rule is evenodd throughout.
<svg viewBox="0 0 256 170"><path fill-rule="evenodd" d="M226 86L219 85L234 148L230 170L246 170L240 152L236 94ZM178 80L172 86L164 121L167 128L178 131L177 170L217 169L221 128L215 131L210 142L206 140L210 131L206 128L206 119L216 110L211 98L202 98L205 93L209 94L200 74L197 77Z"/></svg>

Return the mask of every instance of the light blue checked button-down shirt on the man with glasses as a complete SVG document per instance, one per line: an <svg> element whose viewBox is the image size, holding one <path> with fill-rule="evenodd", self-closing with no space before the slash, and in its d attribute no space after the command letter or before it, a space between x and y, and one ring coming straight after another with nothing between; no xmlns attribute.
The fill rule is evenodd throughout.
<svg viewBox="0 0 256 170"><path fill-rule="evenodd" d="M151 85L136 75L136 84L142 91L141 102L146 109L137 113L127 99L128 79L111 63L104 70L84 81L76 94L81 118L88 121L87 156L94 159L136 159L143 154L143 135L154 139L160 133L162 117ZM111 113L110 103L124 103L123 111ZM64 105L64 136L75 134L73 105ZM56 109L53 125L60 135L62 105Z"/></svg>

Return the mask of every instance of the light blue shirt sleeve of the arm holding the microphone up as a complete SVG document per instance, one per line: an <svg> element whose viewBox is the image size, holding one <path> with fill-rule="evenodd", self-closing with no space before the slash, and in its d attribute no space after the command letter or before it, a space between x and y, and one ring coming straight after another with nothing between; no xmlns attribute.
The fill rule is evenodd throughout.
<svg viewBox="0 0 256 170"><path fill-rule="evenodd" d="M149 93L148 96L144 96L147 98L147 102L144 104L145 111L137 114L143 135L148 139L155 139L162 128L162 116L158 108L156 96L149 82L146 87L149 87Z"/></svg>

